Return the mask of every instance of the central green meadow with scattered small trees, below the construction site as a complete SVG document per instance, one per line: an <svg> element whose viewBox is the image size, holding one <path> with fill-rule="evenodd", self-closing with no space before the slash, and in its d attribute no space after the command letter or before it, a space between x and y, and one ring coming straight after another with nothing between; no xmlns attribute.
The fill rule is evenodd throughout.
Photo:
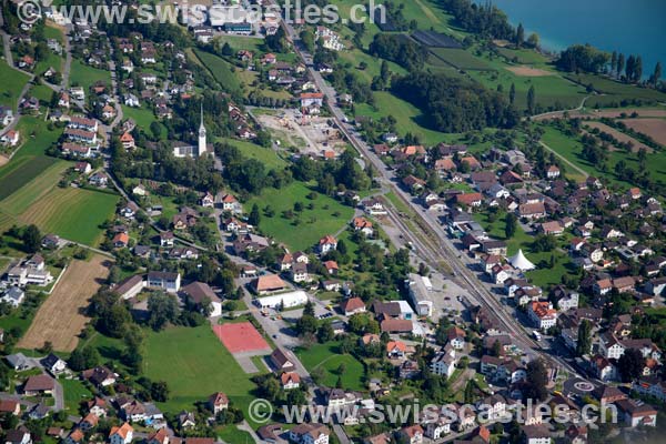
<svg viewBox="0 0 666 444"><path fill-rule="evenodd" d="M312 191L304 183L294 182L281 190L266 189L244 206L251 209L256 203L263 210L270 205L275 214L272 218L262 214L259 224L262 232L285 243L292 251L305 250L314 246L324 235L335 234L343 229L354 214L353 209L321 193L314 200L307 199ZM283 212L293 211L296 202L303 203L303 211L294 211L294 216L286 219ZM314 208L307 209L309 204Z"/></svg>

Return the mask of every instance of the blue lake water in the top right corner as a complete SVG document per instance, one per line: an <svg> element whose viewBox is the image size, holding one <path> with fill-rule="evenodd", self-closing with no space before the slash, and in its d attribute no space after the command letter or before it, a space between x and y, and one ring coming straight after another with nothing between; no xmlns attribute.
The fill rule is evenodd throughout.
<svg viewBox="0 0 666 444"><path fill-rule="evenodd" d="M649 77L657 61L666 63L666 1L664 0L493 0L512 24L523 23L525 37L539 36L546 50L589 43L643 57Z"/></svg>

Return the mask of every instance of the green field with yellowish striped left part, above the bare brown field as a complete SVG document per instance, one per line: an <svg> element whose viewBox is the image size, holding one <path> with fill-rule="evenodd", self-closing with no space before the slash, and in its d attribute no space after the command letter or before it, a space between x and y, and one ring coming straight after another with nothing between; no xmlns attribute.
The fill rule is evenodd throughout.
<svg viewBox="0 0 666 444"><path fill-rule="evenodd" d="M20 219L43 232L97 245L102 235L100 225L113 214L118 199L98 191L57 188L30 205Z"/></svg>

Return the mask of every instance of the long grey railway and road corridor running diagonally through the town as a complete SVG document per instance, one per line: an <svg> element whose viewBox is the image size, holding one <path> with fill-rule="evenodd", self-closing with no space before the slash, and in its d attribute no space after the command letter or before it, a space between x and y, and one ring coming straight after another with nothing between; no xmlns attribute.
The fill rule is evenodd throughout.
<svg viewBox="0 0 666 444"><path fill-rule="evenodd" d="M386 168L384 162L373 152L360 134L347 123L347 118L343 110L336 105L337 93L330 87L322 75L313 67L312 56L300 46L300 38L291 23L282 22L289 39L294 43L294 49L307 65L309 72L320 89L326 97L327 105L331 110L333 120L345 134L350 143L359 151L359 153L369 161L375 171L379 172L377 178L382 188L387 188L394 192L405 204L407 204L415 214L416 230L421 233L413 233L404 223L398 224L400 230L405 238L411 239L417 246L420 255L423 255L427 262L437 265L446 263L457 276L458 283L470 292L470 296L476 300L482 306L485 306L500 321L502 327L511 333L514 342L528 355L542 356L551 366L555 369L566 369L569 373L578 375L576 370L564 359L553 356L541 349L541 345L529 337L529 333L519 325L519 322L509 313L497 300L497 296L492 294L490 290L478 280L478 278L468 269L468 264L462 261L460 253L451 239L444 233L437 221L431 215L423 214L423 208L406 193L397 182L397 178ZM392 205L387 201L389 205ZM396 210L393 210L395 213ZM394 221L400 218L392 218ZM418 235L421 234L421 235ZM427 240L427 241L424 241Z"/></svg>

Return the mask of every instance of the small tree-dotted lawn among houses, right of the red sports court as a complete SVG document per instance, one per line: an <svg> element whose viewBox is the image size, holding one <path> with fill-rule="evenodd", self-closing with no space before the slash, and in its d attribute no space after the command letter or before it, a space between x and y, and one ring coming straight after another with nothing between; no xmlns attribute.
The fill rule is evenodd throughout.
<svg viewBox="0 0 666 444"><path fill-rule="evenodd" d="M340 377L342 386L347 390L365 390L363 383L363 364L351 354L341 354L336 343L315 344L310 349L299 349L296 356L310 373L315 369L323 369L322 385L335 387ZM344 372L340 373L340 365L344 364Z"/></svg>

